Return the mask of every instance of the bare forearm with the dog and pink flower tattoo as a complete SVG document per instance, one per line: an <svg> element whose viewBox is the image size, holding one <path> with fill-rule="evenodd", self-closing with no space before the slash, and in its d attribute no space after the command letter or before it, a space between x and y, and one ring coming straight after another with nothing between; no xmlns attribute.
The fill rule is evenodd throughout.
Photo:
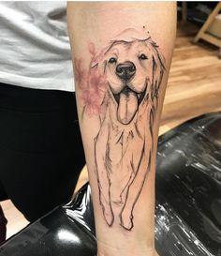
<svg viewBox="0 0 221 256"><path fill-rule="evenodd" d="M155 156L175 3L68 2L98 256L155 255Z"/></svg>

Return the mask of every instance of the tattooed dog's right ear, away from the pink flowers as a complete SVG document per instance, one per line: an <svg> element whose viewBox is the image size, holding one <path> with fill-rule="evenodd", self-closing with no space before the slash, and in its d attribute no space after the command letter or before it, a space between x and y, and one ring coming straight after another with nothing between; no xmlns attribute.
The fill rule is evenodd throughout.
<svg viewBox="0 0 221 256"><path fill-rule="evenodd" d="M154 41L150 42L152 48L152 61L153 61L153 78L151 84L151 99L154 103L155 109L158 107L158 92L162 83L164 71L165 71L165 60L162 54L159 52L158 46Z"/></svg>

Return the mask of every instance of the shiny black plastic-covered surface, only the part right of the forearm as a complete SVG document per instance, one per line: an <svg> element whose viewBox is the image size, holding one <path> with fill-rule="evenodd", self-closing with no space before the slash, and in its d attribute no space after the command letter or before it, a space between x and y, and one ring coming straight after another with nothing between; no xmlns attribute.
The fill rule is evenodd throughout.
<svg viewBox="0 0 221 256"><path fill-rule="evenodd" d="M221 255L221 113L169 131L158 143L156 248L160 255Z"/></svg>

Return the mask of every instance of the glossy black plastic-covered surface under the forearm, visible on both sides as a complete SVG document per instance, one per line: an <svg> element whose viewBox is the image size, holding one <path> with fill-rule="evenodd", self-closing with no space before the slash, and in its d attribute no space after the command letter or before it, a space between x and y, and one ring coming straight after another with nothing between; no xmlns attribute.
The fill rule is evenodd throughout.
<svg viewBox="0 0 221 256"><path fill-rule="evenodd" d="M221 256L221 113L192 119L159 139L155 246L161 256ZM3 255L96 255L90 187L10 238Z"/></svg>

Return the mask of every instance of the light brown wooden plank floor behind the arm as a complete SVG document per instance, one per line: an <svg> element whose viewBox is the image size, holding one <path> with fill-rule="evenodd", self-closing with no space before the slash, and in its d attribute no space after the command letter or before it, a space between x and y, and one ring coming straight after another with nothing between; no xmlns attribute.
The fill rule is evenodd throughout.
<svg viewBox="0 0 221 256"><path fill-rule="evenodd" d="M212 45L191 43L198 29L188 23L178 27L160 134L199 114L221 111L221 59L217 57L218 49ZM76 190L86 181L84 168ZM8 220L8 238L28 221L10 201L1 202L1 205Z"/></svg>

